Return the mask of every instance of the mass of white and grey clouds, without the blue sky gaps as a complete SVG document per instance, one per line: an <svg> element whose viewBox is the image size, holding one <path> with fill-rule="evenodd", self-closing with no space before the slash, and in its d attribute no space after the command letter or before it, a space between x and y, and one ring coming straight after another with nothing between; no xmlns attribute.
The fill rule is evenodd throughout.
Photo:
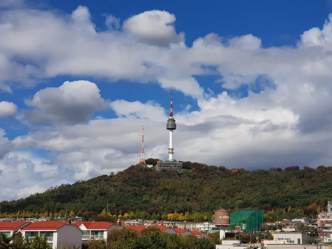
<svg viewBox="0 0 332 249"><path fill-rule="evenodd" d="M321 29L304 31L294 47L262 47L251 34L231 39L207 34L186 44L184 33L175 29L176 17L159 10L132 16L122 26L107 15L106 31L92 23L85 6L67 15L1 10L0 89L15 93L17 84L31 87L63 75L158 83L165 89L173 84L198 106L195 111L175 107L177 160L248 169L327 165L332 159L331 19ZM227 91L205 91L197 76L208 75L218 76L215 84ZM231 94L243 86L247 96ZM109 102L93 80L79 80L45 87L27 96L25 104L29 111L18 119L37 126L12 141L1 129L0 199L136 164L142 123L146 157L167 157L168 110L154 99ZM118 118L94 119L100 110ZM14 103L0 102L0 117L16 113ZM49 151L49 159L22 150ZM24 174L18 176L19 171ZM15 186L6 182L13 178Z"/></svg>

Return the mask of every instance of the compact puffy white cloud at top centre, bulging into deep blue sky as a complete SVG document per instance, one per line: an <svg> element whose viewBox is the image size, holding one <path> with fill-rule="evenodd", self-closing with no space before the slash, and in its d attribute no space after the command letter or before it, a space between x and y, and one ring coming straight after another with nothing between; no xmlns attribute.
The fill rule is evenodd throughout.
<svg viewBox="0 0 332 249"><path fill-rule="evenodd" d="M167 11L145 11L124 21L124 31L140 41L168 46L170 43L184 42L184 34L178 35L175 31L175 20L175 15Z"/></svg>

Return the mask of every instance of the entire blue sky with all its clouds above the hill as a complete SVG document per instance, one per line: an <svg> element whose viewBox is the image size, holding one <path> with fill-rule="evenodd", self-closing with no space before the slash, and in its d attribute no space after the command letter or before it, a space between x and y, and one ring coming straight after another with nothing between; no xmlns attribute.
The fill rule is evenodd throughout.
<svg viewBox="0 0 332 249"><path fill-rule="evenodd" d="M331 166L332 1L0 1L0 201L167 159Z"/></svg>

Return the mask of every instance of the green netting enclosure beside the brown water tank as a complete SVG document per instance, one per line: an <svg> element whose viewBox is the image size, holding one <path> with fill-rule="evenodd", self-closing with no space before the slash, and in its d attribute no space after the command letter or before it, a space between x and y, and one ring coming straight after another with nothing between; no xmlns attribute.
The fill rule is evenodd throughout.
<svg viewBox="0 0 332 249"><path fill-rule="evenodd" d="M241 226L246 233L257 233L263 223L263 210L253 209L236 211L230 214L229 230L235 230L235 226Z"/></svg>

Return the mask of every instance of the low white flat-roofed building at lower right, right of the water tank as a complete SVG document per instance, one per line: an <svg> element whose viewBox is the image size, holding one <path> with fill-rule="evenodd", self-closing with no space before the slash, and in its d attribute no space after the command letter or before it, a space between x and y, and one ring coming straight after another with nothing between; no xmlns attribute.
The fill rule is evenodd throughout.
<svg viewBox="0 0 332 249"><path fill-rule="evenodd" d="M264 243L266 241L269 244L307 244L311 238L304 232L274 232L272 235L273 240L264 240Z"/></svg>

